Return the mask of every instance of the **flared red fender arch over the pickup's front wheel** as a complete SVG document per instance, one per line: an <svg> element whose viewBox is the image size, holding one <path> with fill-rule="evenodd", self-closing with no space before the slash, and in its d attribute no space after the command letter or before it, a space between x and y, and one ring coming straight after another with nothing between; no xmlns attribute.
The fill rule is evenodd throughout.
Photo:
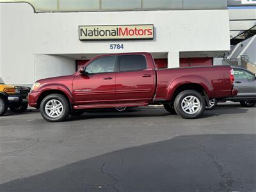
<svg viewBox="0 0 256 192"><path fill-rule="evenodd" d="M67 95L68 100L73 103L73 97L72 97L72 93L70 92L70 90L67 88L67 86L63 85L63 84L59 84L59 83L49 83L49 84L42 84L40 86L40 88L38 88L38 90L36 90L36 92L49 92L49 91L53 91L53 90L58 90L61 91L63 93L65 93L65 95Z"/></svg>

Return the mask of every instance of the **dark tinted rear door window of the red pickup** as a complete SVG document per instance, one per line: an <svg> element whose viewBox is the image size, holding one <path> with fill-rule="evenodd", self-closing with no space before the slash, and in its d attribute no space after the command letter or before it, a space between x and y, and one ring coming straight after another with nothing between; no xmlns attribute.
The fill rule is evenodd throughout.
<svg viewBox="0 0 256 192"><path fill-rule="evenodd" d="M147 68L147 62L143 55L123 55L120 56L120 71L143 70Z"/></svg>

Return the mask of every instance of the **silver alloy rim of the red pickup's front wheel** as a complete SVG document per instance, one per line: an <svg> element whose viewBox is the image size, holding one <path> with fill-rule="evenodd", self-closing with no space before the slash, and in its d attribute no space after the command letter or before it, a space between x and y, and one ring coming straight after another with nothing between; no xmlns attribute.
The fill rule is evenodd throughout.
<svg viewBox="0 0 256 192"><path fill-rule="evenodd" d="M45 113L51 118L57 118L63 112L63 105L60 100L51 99L45 104Z"/></svg>

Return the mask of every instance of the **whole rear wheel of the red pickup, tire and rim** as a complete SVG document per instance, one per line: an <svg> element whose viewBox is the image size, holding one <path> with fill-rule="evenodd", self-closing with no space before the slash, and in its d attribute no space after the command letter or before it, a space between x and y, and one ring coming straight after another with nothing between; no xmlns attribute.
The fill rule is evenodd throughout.
<svg viewBox="0 0 256 192"><path fill-rule="evenodd" d="M186 90L175 98L174 109L182 118L199 118L205 110L205 99L195 90Z"/></svg>

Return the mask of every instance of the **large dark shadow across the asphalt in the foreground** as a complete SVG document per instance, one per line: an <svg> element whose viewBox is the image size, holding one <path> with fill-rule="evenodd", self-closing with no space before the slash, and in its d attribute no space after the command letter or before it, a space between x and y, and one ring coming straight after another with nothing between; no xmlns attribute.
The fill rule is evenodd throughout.
<svg viewBox="0 0 256 192"><path fill-rule="evenodd" d="M178 136L12 180L0 191L255 191L255 146L254 134Z"/></svg>

